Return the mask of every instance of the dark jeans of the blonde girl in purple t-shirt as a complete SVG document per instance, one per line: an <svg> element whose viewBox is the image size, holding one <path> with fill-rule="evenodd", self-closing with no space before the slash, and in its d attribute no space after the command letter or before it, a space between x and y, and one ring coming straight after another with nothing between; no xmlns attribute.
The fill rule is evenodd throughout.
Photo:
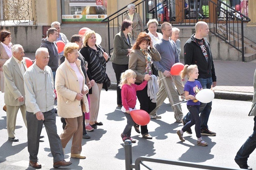
<svg viewBox="0 0 256 170"><path fill-rule="evenodd" d="M187 109L189 110L189 113L192 115L192 118L189 122L186 123L184 127L182 127L182 131L187 131L189 127L193 126L195 124L195 131L197 138L201 137L201 131L200 131L200 124L201 120L199 117L199 105L187 105Z"/></svg>

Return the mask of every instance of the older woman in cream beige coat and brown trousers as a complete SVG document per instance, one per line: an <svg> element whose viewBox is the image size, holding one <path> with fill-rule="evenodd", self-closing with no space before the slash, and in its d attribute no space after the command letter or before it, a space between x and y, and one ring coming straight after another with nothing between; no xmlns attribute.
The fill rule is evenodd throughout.
<svg viewBox="0 0 256 170"><path fill-rule="evenodd" d="M82 152L83 115L89 112L85 94L89 89L78 59L76 43L67 43L64 48L65 61L56 71L55 88L57 91L58 115L65 118L67 125L60 135L62 147L65 148L72 139L71 157L85 159Z"/></svg>

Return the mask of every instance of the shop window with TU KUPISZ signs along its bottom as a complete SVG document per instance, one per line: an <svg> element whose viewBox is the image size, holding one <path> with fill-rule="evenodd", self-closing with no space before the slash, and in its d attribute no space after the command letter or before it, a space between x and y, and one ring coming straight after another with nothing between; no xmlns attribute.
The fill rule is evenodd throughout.
<svg viewBox="0 0 256 170"><path fill-rule="evenodd" d="M100 22L107 17L107 0L61 0L62 22Z"/></svg>

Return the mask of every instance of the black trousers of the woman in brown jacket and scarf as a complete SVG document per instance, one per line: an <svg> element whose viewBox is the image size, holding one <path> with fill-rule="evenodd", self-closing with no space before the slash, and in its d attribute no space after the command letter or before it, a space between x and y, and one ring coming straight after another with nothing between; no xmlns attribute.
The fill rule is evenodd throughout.
<svg viewBox="0 0 256 170"><path fill-rule="evenodd" d="M140 85L141 83L135 83L136 85ZM151 102L150 97L148 97L148 85L141 90L136 91L137 98L140 103L140 109L145 110L148 114L152 112L156 108L156 103ZM141 126L141 135L147 135L148 134L148 127Z"/></svg>

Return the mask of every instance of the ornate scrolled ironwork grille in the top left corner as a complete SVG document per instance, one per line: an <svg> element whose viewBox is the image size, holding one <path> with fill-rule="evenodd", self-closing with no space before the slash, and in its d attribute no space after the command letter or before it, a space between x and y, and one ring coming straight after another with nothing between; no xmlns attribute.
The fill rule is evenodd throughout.
<svg viewBox="0 0 256 170"><path fill-rule="evenodd" d="M4 0L2 25L33 25L32 0Z"/></svg>

